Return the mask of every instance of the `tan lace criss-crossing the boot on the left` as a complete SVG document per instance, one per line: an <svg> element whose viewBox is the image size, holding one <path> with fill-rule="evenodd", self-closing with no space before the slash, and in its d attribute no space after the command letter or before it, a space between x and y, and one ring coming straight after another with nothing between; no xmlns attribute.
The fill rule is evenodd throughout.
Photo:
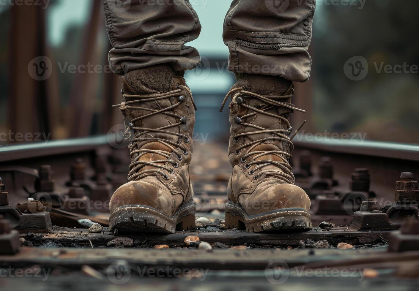
<svg viewBox="0 0 419 291"><path fill-rule="evenodd" d="M179 164L177 161L174 160L174 156L172 157L172 159L170 159L172 153L174 152L176 155L176 158L178 161L182 160L182 155L181 152L183 152L184 155L188 155L188 149L186 147L184 147L182 144L173 142L171 140L168 140L166 138L162 138L159 137L158 135L156 135L156 137L153 137L151 135L151 133L160 133L160 134L168 134L168 135L172 135L172 136L178 136L183 138L184 142L187 144L189 143L189 137L181 134L181 133L176 133L176 132L172 132L169 131L168 129L172 128L172 127L176 127L179 126L181 124L185 124L186 123L186 116L180 116L176 113L174 113L172 110L173 108L176 108L177 106L179 106L181 103L186 101L186 97L184 95L181 95L180 92L182 91L182 89L187 90L190 93L190 96L192 96L191 91L189 90L189 88L187 86L178 84L176 86L176 90L172 90L169 91L167 93L156 93L156 94L149 94L149 95L129 95L129 94L124 94L124 97L129 97L129 98L136 98L137 100L132 100L132 101L125 101L122 102L121 104L117 104L114 105L112 107L119 107L119 109L122 111L124 116L127 116L127 110L130 111L134 111L134 110L143 110L143 111L148 111L150 113L142 115L142 116L138 116L136 118L133 118L130 120L128 126L126 126L126 130L124 132L124 138L130 138L131 137L131 132L129 132L130 130L134 131L134 136L132 137L132 140L130 142L130 144L128 145L129 147L129 156L131 157L131 164L129 165L129 173L128 173L128 181L134 181L134 180L139 180L140 178L144 178L145 176L150 176L150 175L157 175L157 174L161 174L163 176L163 178L165 180L169 179L169 176L166 173L163 173L161 170L165 170L167 171L169 174L173 174L175 172L175 170L171 167L166 167L165 164L166 162L171 163L173 165L173 167L179 167ZM151 108L147 108L147 107L141 107L141 104L138 104L138 106L134 105L134 103L139 103L139 102L148 102L148 101L157 101L157 100L162 100L162 99L168 99L174 96L179 96L179 101L171 106L168 106L166 108L160 109L160 110L155 110L155 109L151 109ZM195 107L195 103L192 99L192 103ZM196 107L195 107L196 110ZM125 113L125 114L124 114ZM159 113L164 113L166 115L169 116L173 116L175 118L178 118L180 121L174 124L169 124L166 126L162 126L159 128L147 128L147 127L139 127L139 126L134 126L134 123L136 121L140 121L142 119L145 119L147 117L153 116L155 114L159 114ZM125 121L124 121L125 123ZM148 135L148 136L146 136ZM159 142L163 145L165 145L166 147L171 149L171 152L165 151L165 150L154 150L154 149L135 149L137 142L144 142L144 141L150 141L150 142ZM179 149L179 150L178 150ZM158 154L161 155L163 157L165 157L166 159L163 160L155 160L155 161L145 161L145 160L140 160L142 156L149 154L149 153L154 153L154 154ZM163 163L163 165L158 165L158 163ZM148 170L143 170L140 173L138 173L143 167L145 166L153 166L154 168L152 169L148 169ZM161 169L161 170L160 170Z"/></svg>

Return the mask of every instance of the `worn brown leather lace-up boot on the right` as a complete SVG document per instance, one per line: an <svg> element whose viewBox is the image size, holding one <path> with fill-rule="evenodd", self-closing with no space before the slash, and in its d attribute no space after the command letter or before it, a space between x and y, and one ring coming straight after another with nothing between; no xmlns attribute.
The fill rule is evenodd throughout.
<svg viewBox="0 0 419 291"><path fill-rule="evenodd" d="M289 164L293 150L290 113L292 82L281 77L247 75L232 87L225 225L264 232L312 227L310 198ZM222 109L222 108L221 108ZM303 111L304 112L304 111Z"/></svg>

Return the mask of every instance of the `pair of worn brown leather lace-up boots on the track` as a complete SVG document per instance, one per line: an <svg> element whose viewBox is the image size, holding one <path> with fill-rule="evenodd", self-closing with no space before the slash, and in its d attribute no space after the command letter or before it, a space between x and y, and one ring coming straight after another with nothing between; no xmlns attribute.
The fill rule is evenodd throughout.
<svg viewBox="0 0 419 291"><path fill-rule="evenodd" d="M110 228L120 232L175 232L195 226L189 179L195 104L183 77L168 64L122 77L131 164L129 182L110 202ZM228 183L225 226L264 232L309 229L310 199L289 164L293 145L289 114L292 82L246 75L231 96L230 144L233 167Z"/></svg>

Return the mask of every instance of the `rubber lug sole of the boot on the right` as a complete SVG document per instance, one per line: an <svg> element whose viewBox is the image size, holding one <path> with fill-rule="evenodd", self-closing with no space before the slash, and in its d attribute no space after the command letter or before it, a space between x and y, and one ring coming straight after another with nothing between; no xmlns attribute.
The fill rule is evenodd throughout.
<svg viewBox="0 0 419 291"><path fill-rule="evenodd" d="M247 232L269 232L275 230L301 229L313 227L311 216L302 208L285 208L249 216L236 204L225 205L225 226Z"/></svg>

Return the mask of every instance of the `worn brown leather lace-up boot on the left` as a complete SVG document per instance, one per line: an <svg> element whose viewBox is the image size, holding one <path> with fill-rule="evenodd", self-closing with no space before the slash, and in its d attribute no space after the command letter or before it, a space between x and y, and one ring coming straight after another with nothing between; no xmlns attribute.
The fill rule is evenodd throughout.
<svg viewBox="0 0 419 291"><path fill-rule="evenodd" d="M183 77L159 64L122 77L131 164L110 201L111 231L166 232L195 226L189 180L195 105Z"/></svg>

